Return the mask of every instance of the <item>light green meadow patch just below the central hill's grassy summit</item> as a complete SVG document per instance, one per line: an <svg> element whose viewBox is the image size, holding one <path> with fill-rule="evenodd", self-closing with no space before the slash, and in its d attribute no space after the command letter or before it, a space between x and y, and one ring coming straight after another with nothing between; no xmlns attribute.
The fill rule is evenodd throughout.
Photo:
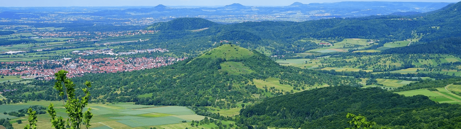
<svg viewBox="0 0 461 129"><path fill-rule="evenodd" d="M249 74L254 72L248 66L243 65L241 62L234 62L234 61L227 61L221 63L221 72L227 72L231 75L239 75L239 74Z"/></svg>

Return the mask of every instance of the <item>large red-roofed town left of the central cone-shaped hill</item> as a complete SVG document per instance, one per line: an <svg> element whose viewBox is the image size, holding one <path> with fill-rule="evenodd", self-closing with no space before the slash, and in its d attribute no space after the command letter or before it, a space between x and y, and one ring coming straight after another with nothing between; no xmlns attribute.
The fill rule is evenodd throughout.
<svg viewBox="0 0 461 129"><path fill-rule="evenodd" d="M54 73L67 70L68 77L82 76L85 73L113 73L151 69L171 65L186 58L156 57L156 58L102 58L102 59L72 59L42 60L39 62L2 62L1 65L16 66L12 69L1 69L0 75L22 75L23 79L39 78L53 79ZM64 61L67 60L67 61ZM44 69L44 65L59 65L61 67Z"/></svg>

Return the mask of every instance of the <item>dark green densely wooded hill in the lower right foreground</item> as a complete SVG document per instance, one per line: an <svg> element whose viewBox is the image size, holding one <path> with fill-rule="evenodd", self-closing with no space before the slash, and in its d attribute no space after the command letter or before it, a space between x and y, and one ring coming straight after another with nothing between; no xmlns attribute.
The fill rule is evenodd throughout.
<svg viewBox="0 0 461 129"><path fill-rule="evenodd" d="M392 129L461 128L458 104L404 97L380 88L335 86L272 97L240 111L237 123L301 129L344 129L347 113Z"/></svg>

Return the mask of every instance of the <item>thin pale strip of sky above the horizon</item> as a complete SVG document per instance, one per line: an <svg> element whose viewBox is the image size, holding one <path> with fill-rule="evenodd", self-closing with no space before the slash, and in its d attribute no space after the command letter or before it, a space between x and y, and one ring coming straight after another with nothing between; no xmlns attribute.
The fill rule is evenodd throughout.
<svg viewBox="0 0 461 129"><path fill-rule="evenodd" d="M294 2L332 3L340 1L459 2L460 0L0 0L2 7L30 6L213 6L239 3L246 6L287 6Z"/></svg>

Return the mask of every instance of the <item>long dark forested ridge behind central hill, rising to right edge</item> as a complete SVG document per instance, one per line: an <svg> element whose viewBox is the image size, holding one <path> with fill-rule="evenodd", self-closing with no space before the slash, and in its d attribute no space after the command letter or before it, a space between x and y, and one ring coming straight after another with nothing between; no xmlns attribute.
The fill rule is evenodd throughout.
<svg viewBox="0 0 461 129"><path fill-rule="evenodd" d="M367 16L359 18L331 18L312 21L261 21L221 25L201 18L177 18L155 23L146 29L160 30L152 36L149 45L169 49L192 50L209 48L214 42L227 40L243 48L266 48L271 55L303 53L319 48L317 43L300 42L314 38L327 42L341 42L345 38L376 39L366 49L383 47L384 43L422 37L417 43L427 43L440 38L460 36L457 22L460 3L443 9L409 16ZM200 32L182 32L209 27ZM141 44L140 47L146 44ZM190 49L187 49L188 52ZM189 53L189 52L188 52ZM180 54L180 53L177 53ZM194 56L198 56L194 53Z"/></svg>

